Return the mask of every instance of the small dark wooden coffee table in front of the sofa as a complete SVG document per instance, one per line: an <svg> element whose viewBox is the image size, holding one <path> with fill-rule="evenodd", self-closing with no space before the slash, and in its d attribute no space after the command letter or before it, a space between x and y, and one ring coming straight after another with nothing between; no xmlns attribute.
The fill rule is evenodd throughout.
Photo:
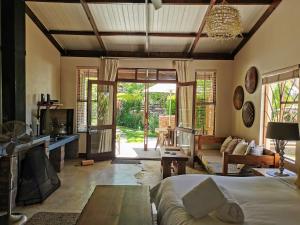
<svg viewBox="0 0 300 225"><path fill-rule="evenodd" d="M171 176L172 164L173 168L177 170L177 175L186 173L185 167L189 157L180 148L163 147L160 149L160 154L163 179Z"/></svg>

